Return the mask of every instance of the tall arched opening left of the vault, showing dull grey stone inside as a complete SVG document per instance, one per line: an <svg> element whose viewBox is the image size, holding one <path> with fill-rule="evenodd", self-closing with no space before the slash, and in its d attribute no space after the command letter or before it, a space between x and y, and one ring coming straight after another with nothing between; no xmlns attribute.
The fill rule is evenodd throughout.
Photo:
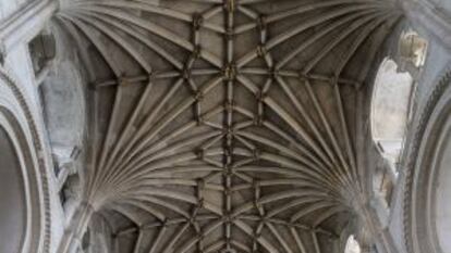
<svg viewBox="0 0 451 253"><path fill-rule="evenodd" d="M85 79L76 59L66 54L70 43L56 27L39 34L29 43L40 103L52 150L54 176L65 211L80 194L80 172L86 124Z"/></svg>

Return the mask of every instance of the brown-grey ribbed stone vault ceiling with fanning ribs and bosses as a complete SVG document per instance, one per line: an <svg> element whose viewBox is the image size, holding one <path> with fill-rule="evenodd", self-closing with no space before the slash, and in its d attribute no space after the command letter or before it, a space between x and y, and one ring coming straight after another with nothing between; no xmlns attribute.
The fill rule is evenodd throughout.
<svg viewBox="0 0 451 253"><path fill-rule="evenodd" d="M336 252L362 199L356 93L380 0L80 1L93 83L85 202L120 252Z"/></svg>

